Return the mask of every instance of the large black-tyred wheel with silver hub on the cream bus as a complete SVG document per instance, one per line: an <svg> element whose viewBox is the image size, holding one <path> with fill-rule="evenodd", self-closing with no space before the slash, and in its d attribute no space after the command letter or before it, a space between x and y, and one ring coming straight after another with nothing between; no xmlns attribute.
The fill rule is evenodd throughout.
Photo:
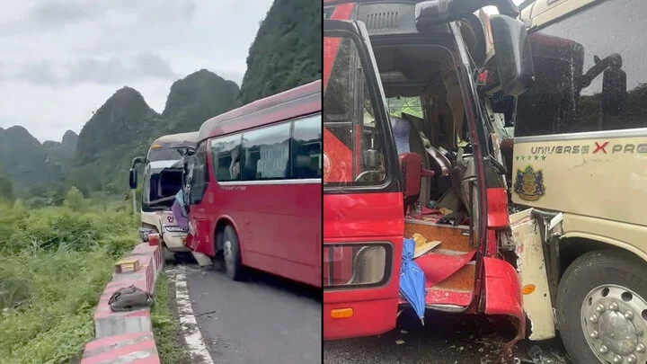
<svg viewBox="0 0 647 364"><path fill-rule="evenodd" d="M628 253L583 254L557 290L557 324L574 363L647 362L647 265Z"/></svg>

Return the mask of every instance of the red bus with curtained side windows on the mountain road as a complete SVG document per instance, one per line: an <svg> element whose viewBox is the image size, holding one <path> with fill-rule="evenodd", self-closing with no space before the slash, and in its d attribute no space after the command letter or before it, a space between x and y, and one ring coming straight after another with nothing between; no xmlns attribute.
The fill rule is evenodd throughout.
<svg viewBox="0 0 647 364"><path fill-rule="evenodd" d="M321 81L205 121L188 161L187 246L321 287Z"/></svg>

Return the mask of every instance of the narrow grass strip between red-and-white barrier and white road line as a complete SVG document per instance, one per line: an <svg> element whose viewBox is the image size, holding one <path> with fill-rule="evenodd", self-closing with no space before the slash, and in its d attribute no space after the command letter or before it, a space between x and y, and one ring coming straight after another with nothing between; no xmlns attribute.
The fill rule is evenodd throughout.
<svg viewBox="0 0 647 364"><path fill-rule="evenodd" d="M151 310L153 334L162 364L190 363L191 357L181 342L182 329L180 321L173 315L171 303L175 295L169 288L166 273L160 272L155 282L155 305Z"/></svg>

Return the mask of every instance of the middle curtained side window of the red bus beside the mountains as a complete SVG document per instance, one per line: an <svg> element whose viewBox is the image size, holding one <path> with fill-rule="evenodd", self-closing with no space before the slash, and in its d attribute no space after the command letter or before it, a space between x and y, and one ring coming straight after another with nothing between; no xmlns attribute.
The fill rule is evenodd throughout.
<svg viewBox="0 0 647 364"><path fill-rule="evenodd" d="M244 132L241 153L242 180L288 178L289 139L289 122Z"/></svg>

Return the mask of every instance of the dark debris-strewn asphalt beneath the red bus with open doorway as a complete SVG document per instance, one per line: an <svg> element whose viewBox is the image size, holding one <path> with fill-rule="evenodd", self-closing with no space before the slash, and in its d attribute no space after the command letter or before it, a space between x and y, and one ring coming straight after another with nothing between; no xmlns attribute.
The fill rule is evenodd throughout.
<svg viewBox="0 0 647 364"><path fill-rule="evenodd" d="M399 327L379 337L323 343L324 364L572 364L559 340L519 342L510 356L501 350L514 336L507 320L433 313L420 321L403 313ZM536 360L533 360L531 354Z"/></svg>

